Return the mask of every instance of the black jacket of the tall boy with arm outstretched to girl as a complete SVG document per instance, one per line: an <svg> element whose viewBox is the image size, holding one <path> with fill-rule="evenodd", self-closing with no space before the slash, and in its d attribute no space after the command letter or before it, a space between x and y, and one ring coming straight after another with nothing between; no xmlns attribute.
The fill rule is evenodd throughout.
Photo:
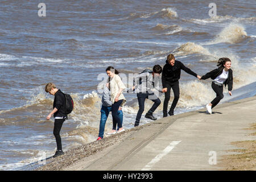
<svg viewBox="0 0 256 182"><path fill-rule="evenodd" d="M197 77L197 74L195 72L192 72L191 69L185 67L184 64L181 63L180 61L175 60L174 66L172 66L166 60L166 64L163 67L163 73L162 73L163 88L166 88L166 84L168 82L172 83L180 79L181 69L183 69L188 74Z"/></svg>

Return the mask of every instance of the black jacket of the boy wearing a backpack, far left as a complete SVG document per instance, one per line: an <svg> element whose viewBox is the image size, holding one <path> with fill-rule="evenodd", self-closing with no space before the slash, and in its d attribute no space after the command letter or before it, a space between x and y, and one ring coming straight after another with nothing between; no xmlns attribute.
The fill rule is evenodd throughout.
<svg viewBox="0 0 256 182"><path fill-rule="evenodd" d="M65 114L65 96L59 89L54 95L53 109L56 107L57 112L53 114L53 117L66 117Z"/></svg>

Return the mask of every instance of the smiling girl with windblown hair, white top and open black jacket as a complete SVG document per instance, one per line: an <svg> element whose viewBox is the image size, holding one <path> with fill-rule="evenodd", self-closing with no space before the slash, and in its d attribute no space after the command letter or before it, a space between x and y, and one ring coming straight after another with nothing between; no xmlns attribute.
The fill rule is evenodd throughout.
<svg viewBox="0 0 256 182"><path fill-rule="evenodd" d="M231 90L233 88L233 71L231 67L231 60L228 57L222 57L218 60L218 68L207 73L201 77L201 80L212 78L212 89L216 93L216 97L210 104L207 104L207 111L212 114L212 108L215 107L224 97L223 85L228 85L229 95L232 96Z"/></svg>

